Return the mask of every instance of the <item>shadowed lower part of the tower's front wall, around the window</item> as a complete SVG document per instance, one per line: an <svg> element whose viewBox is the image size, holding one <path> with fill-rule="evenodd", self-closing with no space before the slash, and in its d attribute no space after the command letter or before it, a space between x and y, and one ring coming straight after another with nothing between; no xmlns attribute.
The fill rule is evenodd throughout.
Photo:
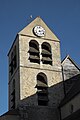
<svg viewBox="0 0 80 120"><path fill-rule="evenodd" d="M48 87L47 105L38 105L38 92L20 100L20 113L23 113L22 116L27 114L28 120L59 120L60 111L58 107L61 100L64 98L63 88L63 82ZM41 102L46 102L46 98L43 97Z"/></svg>

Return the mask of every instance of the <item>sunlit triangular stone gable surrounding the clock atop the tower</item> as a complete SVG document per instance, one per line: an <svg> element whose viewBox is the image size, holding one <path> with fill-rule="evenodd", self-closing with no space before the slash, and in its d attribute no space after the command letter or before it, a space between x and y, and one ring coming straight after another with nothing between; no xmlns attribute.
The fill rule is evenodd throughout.
<svg viewBox="0 0 80 120"><path fill-rule="evenodd" d="M34 19L30 24L28 24L24 29L22 29L18 34L36 37L33 34L33 28L35 26L42 26L45 29L46 33L45 33L45 36L43 36L43 38L59 41L56 35L49 29L49 27L44 23L44 21L40 17L37 17L36 19Z"/></svg>

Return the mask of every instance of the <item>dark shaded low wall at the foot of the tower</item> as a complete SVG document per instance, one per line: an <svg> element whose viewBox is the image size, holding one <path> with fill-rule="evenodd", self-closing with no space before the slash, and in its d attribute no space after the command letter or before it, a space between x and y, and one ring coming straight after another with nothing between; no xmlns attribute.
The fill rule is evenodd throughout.
<svg viewBox="0 0 80 120"><path fill-rule="evenodd" d="M59 120L59 110L52 107L20 107L21 120Z"/></svg>

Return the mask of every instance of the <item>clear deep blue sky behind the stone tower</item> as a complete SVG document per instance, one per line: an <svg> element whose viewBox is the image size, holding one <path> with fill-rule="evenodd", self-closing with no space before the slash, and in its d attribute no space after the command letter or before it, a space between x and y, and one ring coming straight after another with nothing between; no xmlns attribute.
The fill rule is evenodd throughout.
<svg viewBox="0 0 80 120"><path fill-rule="evenodd" d="M40 16L61 41L61 58L80 65L80 0L0 0L0 115L8 110L8 58L16 34Z"/></svg>

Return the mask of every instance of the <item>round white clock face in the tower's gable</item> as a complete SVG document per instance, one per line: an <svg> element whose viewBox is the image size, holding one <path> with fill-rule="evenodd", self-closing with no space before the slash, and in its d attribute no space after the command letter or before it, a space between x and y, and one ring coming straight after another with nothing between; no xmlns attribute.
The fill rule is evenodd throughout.
<svg viewBox="0 0 80 120"><path fill-rule="evenodd" d="M43 37L45 35L45 29L42 26L34 27L33 31L37 36Z"/></svg>

